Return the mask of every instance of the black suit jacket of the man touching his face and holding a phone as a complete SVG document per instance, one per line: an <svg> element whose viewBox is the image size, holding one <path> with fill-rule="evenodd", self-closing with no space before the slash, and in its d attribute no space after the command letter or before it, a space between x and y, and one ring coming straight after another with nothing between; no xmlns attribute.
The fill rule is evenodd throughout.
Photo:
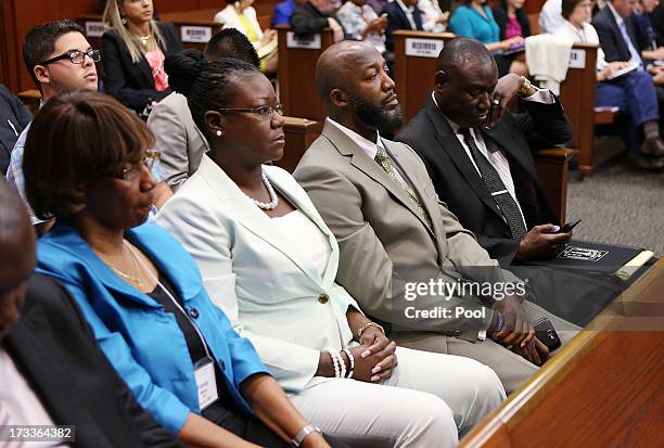
<svg viewBox="0 0 664 448"><path fill-rule="evenodd" d="M532 153L570 140L572 125L558 101L524 104L526 114L506 112L494 129L484 131L485 141L501 148L507 155L528 229L549 222L559 225L539 185ZM409 144L422 157L440 201L447 203L465 229L475 233L491 258L508 267L519 242L511 239L496 202L431 97L397 140Z"/></svg>

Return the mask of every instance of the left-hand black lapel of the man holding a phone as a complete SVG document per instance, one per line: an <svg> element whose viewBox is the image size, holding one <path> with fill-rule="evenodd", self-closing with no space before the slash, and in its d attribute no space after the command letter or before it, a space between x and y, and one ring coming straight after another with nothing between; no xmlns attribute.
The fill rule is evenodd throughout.
<svg viewBox="0 0 664 448"><path fill-rule="evenodd" d="M426 102L426 113L436 129L436 141L440 150L447 152L449 158L451 158L452 163L457 166L457 169L461 172L461 176L463 176L477 197L502 219L496 201L494 201L489 194L486 184L480 177L480 174L477 174L475 166L452 131L451 126L449 126L449 123L447 123L443 113L431 98Z"/></svg>

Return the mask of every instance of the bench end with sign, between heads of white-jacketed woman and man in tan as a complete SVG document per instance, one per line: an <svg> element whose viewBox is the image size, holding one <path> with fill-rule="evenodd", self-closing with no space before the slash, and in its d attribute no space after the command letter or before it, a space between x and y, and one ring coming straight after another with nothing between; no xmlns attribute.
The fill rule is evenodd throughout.
<svg viewBox="0 0 664 448"><path fill-rule="evenodd" d="M279 98L288 115L321 120L327 116L316 89L316 62L333 42L331 29L298 39L289 25L277 26L279 36Z"/></svg>

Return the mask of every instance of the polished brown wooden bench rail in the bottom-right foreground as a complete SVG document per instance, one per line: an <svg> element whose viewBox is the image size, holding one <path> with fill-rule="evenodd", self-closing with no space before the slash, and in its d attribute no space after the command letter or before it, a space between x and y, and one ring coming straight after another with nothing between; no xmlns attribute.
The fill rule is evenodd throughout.
<svg viewBox="0 0 664 448"><path fill-rule="evenodd" d="M663 290L660 259L459 447L661 447Z"/></svg>

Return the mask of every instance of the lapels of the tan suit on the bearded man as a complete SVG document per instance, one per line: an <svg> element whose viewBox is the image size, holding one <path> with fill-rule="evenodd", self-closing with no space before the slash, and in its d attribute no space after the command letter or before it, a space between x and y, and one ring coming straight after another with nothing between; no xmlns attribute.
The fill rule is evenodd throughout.
<svg viewBox="0 0 664 448"><path fill-rule="evenodd" d="M348 136L346 136L341 129L331 123L325 121L323 126L323 130L321 136L328 139L328 141L336 148L336 150L343 155L349 155L353 158L350 159L350 164L355 166L360 171L365 172L371 179L380 183L392 194L392 196L399 202L403 206L408 208L418 219L420 219L424 226L426 222L423 221L420 213L416 208L416 206L410 201L408 193L397 183L396 180L393 180L387 172L372 158L370 158L367 153L359 148ZM385 140L383 140L383 143ZM401 168L400 174L407 176L408 169L403 167L403 164L398 161L398 156L395 156L395 152L391 151L387 148L387 152L393 161ZM408 178L409 179L409 178ZM410 179L409 179L410 180ZM414 182L411 181L411 185L414 185ZM423 197L422 192L416 190L416 193ZM429 226L426 226L429 228ZM431 229L430 229L431 230Z"/></svg>

